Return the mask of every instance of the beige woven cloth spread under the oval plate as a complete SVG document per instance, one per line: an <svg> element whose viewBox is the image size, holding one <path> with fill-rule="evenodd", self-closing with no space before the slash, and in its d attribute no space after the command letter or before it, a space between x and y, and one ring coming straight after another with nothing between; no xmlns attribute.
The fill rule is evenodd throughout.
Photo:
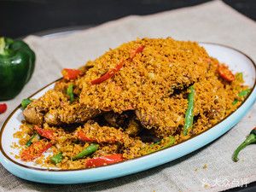
<svg viewBox="0 0 256 192"><path fill-rule="evenodd" d="M7 113L22 98L61 76L63 67L79 67L107 49L135 38L172 37L230 45L256 61L256 24L220 1L148 16L129 16L58 38L27 37L38 60L32 79L13 101ZM256 106L231 131L178 160L145 172L97 183L49 185L32 183L11 175L0 166L0 191L219 191L256 181L256 146L231 154L256 125Z"/></svg>

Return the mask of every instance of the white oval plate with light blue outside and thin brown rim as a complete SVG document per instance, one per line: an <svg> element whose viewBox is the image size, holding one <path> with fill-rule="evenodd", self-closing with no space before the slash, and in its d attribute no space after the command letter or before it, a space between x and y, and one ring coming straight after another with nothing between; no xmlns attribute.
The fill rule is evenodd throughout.
<svg viewBox="0 0 256 192"><path fill-rule="evenodd" d="M256 67L253 61L236 49L232 49L220 44L201 43L209 55L217 58L218 61L226 63L230 69L244 74L245 84L252 87L250 95L246 101L241 104L234 113L213 126L211 129L202 132L200 135L189 140L155 152L134 160L126 160L110 166L102 166L83 170L57 170L45 169L33 162L23 162L15 159L15 154L19 154L18 149L11 148L12 143L17 143L13 134L19 129L23 119L20 106L11 113L3 123L0 132L0 161L2 165L17 177L39 183L89 183L100 180L106 180L113 177L121 177L135 172L141 172L154 166L160 166L166 162L176 160L183 155L189 154L198 148L201 148L213 140L222 136L236 125L241 118L253 106L256 99L255 77ZM54 83L49 84L42 90L36 92L32 97L38 98L54 87Z"/></svg>

